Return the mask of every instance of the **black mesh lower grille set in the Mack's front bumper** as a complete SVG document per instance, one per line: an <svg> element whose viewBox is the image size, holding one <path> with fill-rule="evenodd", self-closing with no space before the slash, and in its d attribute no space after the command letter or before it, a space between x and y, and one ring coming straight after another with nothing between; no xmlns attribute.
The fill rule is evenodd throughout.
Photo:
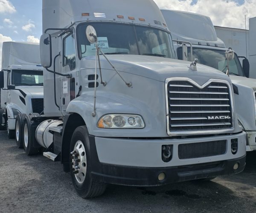
<svg viewBox="0 0 256 213"><path fill-rule="evenodd" d="M226 153L227 141L209 141L193 144L180 144L178 155L180 159L204 158Z"/></svg>

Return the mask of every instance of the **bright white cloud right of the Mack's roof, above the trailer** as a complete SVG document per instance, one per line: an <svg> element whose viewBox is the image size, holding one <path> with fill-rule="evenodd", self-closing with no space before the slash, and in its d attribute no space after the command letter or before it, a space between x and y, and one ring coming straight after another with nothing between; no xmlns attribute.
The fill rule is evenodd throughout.
<svg viewBox="0 0 256 213"><path fill-rule="evenodd" d="M214 25L244 29L245 19L256 16L256 0L244 0L239 5L236 0L154 0L160 9L181 10L207 15Z"/></svg>

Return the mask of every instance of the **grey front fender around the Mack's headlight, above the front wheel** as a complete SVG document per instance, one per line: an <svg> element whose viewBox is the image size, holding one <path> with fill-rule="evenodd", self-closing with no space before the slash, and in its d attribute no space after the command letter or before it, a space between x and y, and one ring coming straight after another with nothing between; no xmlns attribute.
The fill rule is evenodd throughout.
<svg viewBox="0 0 256 213"><path fill-rule="evenodd" d="M156 101L149 106L147 103L124 96L119 93L99 92L96 99L96 117L92 116L94 94L87 93L71 101L68 113L77 113L84 119L90 135L98 137L168 137L166 131L166 112L164 104ZM144 129L100 129L99 119L106 114L141 115L145 122Z"/></svg>

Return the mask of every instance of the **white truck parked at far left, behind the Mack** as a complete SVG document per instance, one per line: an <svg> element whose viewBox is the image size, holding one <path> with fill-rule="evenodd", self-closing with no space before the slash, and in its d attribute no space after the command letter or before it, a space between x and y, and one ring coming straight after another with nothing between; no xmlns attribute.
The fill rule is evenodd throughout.
<svg viewBox="0 0 256 213"><path fill-rule="evenodd" d="M22 148L24 114L44 111L43 68L38 43L3 43L0 88L1 128L7 129L8 137L15 138L17 147Z"/></svg>

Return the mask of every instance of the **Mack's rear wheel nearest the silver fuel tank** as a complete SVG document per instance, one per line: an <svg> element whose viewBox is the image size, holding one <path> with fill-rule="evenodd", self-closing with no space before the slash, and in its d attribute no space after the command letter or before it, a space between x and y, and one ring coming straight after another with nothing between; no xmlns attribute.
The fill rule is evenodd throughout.
<svg viewBox="0 0 256 213"><path fill-rule="evenodd" d="M33 147L32 140L35 140L35 134L32 132L31 118L37 117L36 115L26 115L23 124L23 147L27 155L38 154L39 149Z"/></svg>

